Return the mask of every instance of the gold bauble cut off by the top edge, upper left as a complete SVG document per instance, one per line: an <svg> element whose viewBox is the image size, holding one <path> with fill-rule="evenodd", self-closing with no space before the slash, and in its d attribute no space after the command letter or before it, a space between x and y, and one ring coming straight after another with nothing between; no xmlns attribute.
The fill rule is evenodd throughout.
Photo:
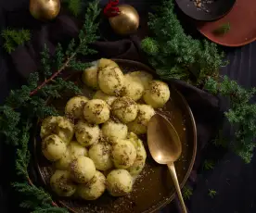
<svg viewBox="0 0 256 213"><path fill-rule="evenodd" d="M55 19L60 10L59 0L30 0L30 11L35 19Z"/></svg>

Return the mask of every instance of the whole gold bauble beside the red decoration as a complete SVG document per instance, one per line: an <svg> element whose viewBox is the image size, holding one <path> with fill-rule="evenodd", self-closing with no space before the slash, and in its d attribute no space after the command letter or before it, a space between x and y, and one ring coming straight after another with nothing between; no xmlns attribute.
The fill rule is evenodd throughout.
<svg viewBox="0 0 256 213"><path fill-rule="evenodd" d="M133 6L118 6L120 14L109 18L113 31L117 34L127 35L134 33L139 27L139 15Z"/></svg>

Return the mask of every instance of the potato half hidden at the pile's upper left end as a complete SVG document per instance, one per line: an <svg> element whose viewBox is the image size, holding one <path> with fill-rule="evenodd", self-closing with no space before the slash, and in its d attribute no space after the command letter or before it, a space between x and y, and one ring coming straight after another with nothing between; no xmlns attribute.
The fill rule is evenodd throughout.
<svg viewBox="0 0 256 213"><path fill-rule="evenodd" d="M92 67L84 69L82 74L82 81L85 85L97 89L98 83L97 83L97 72L98 72L98 63L93 62Z"/></svg>

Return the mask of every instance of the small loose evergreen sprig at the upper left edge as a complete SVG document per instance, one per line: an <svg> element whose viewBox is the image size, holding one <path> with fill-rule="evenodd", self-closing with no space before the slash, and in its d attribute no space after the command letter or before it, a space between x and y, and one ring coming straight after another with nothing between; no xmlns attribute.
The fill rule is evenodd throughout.
<svg viewBox="0 0 256 213"><path fill-rule="evenodd" d="M30 41L31 31L29 30L10 30L6 29L1 33L2 37L5 39L4 47L7 53L13 52L17 46Z"/></svg>

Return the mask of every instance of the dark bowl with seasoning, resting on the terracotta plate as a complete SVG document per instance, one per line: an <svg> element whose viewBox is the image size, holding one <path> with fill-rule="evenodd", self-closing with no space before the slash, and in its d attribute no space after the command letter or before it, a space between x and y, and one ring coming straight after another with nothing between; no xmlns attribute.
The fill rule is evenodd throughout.
<svg viewBox="0 0 256 213"><path fill-rule="evenodd" d="M224 17L236 0L175 0L180 9L192 19L215 20ZM195 6L195 2L201 2Z"/></svg>

